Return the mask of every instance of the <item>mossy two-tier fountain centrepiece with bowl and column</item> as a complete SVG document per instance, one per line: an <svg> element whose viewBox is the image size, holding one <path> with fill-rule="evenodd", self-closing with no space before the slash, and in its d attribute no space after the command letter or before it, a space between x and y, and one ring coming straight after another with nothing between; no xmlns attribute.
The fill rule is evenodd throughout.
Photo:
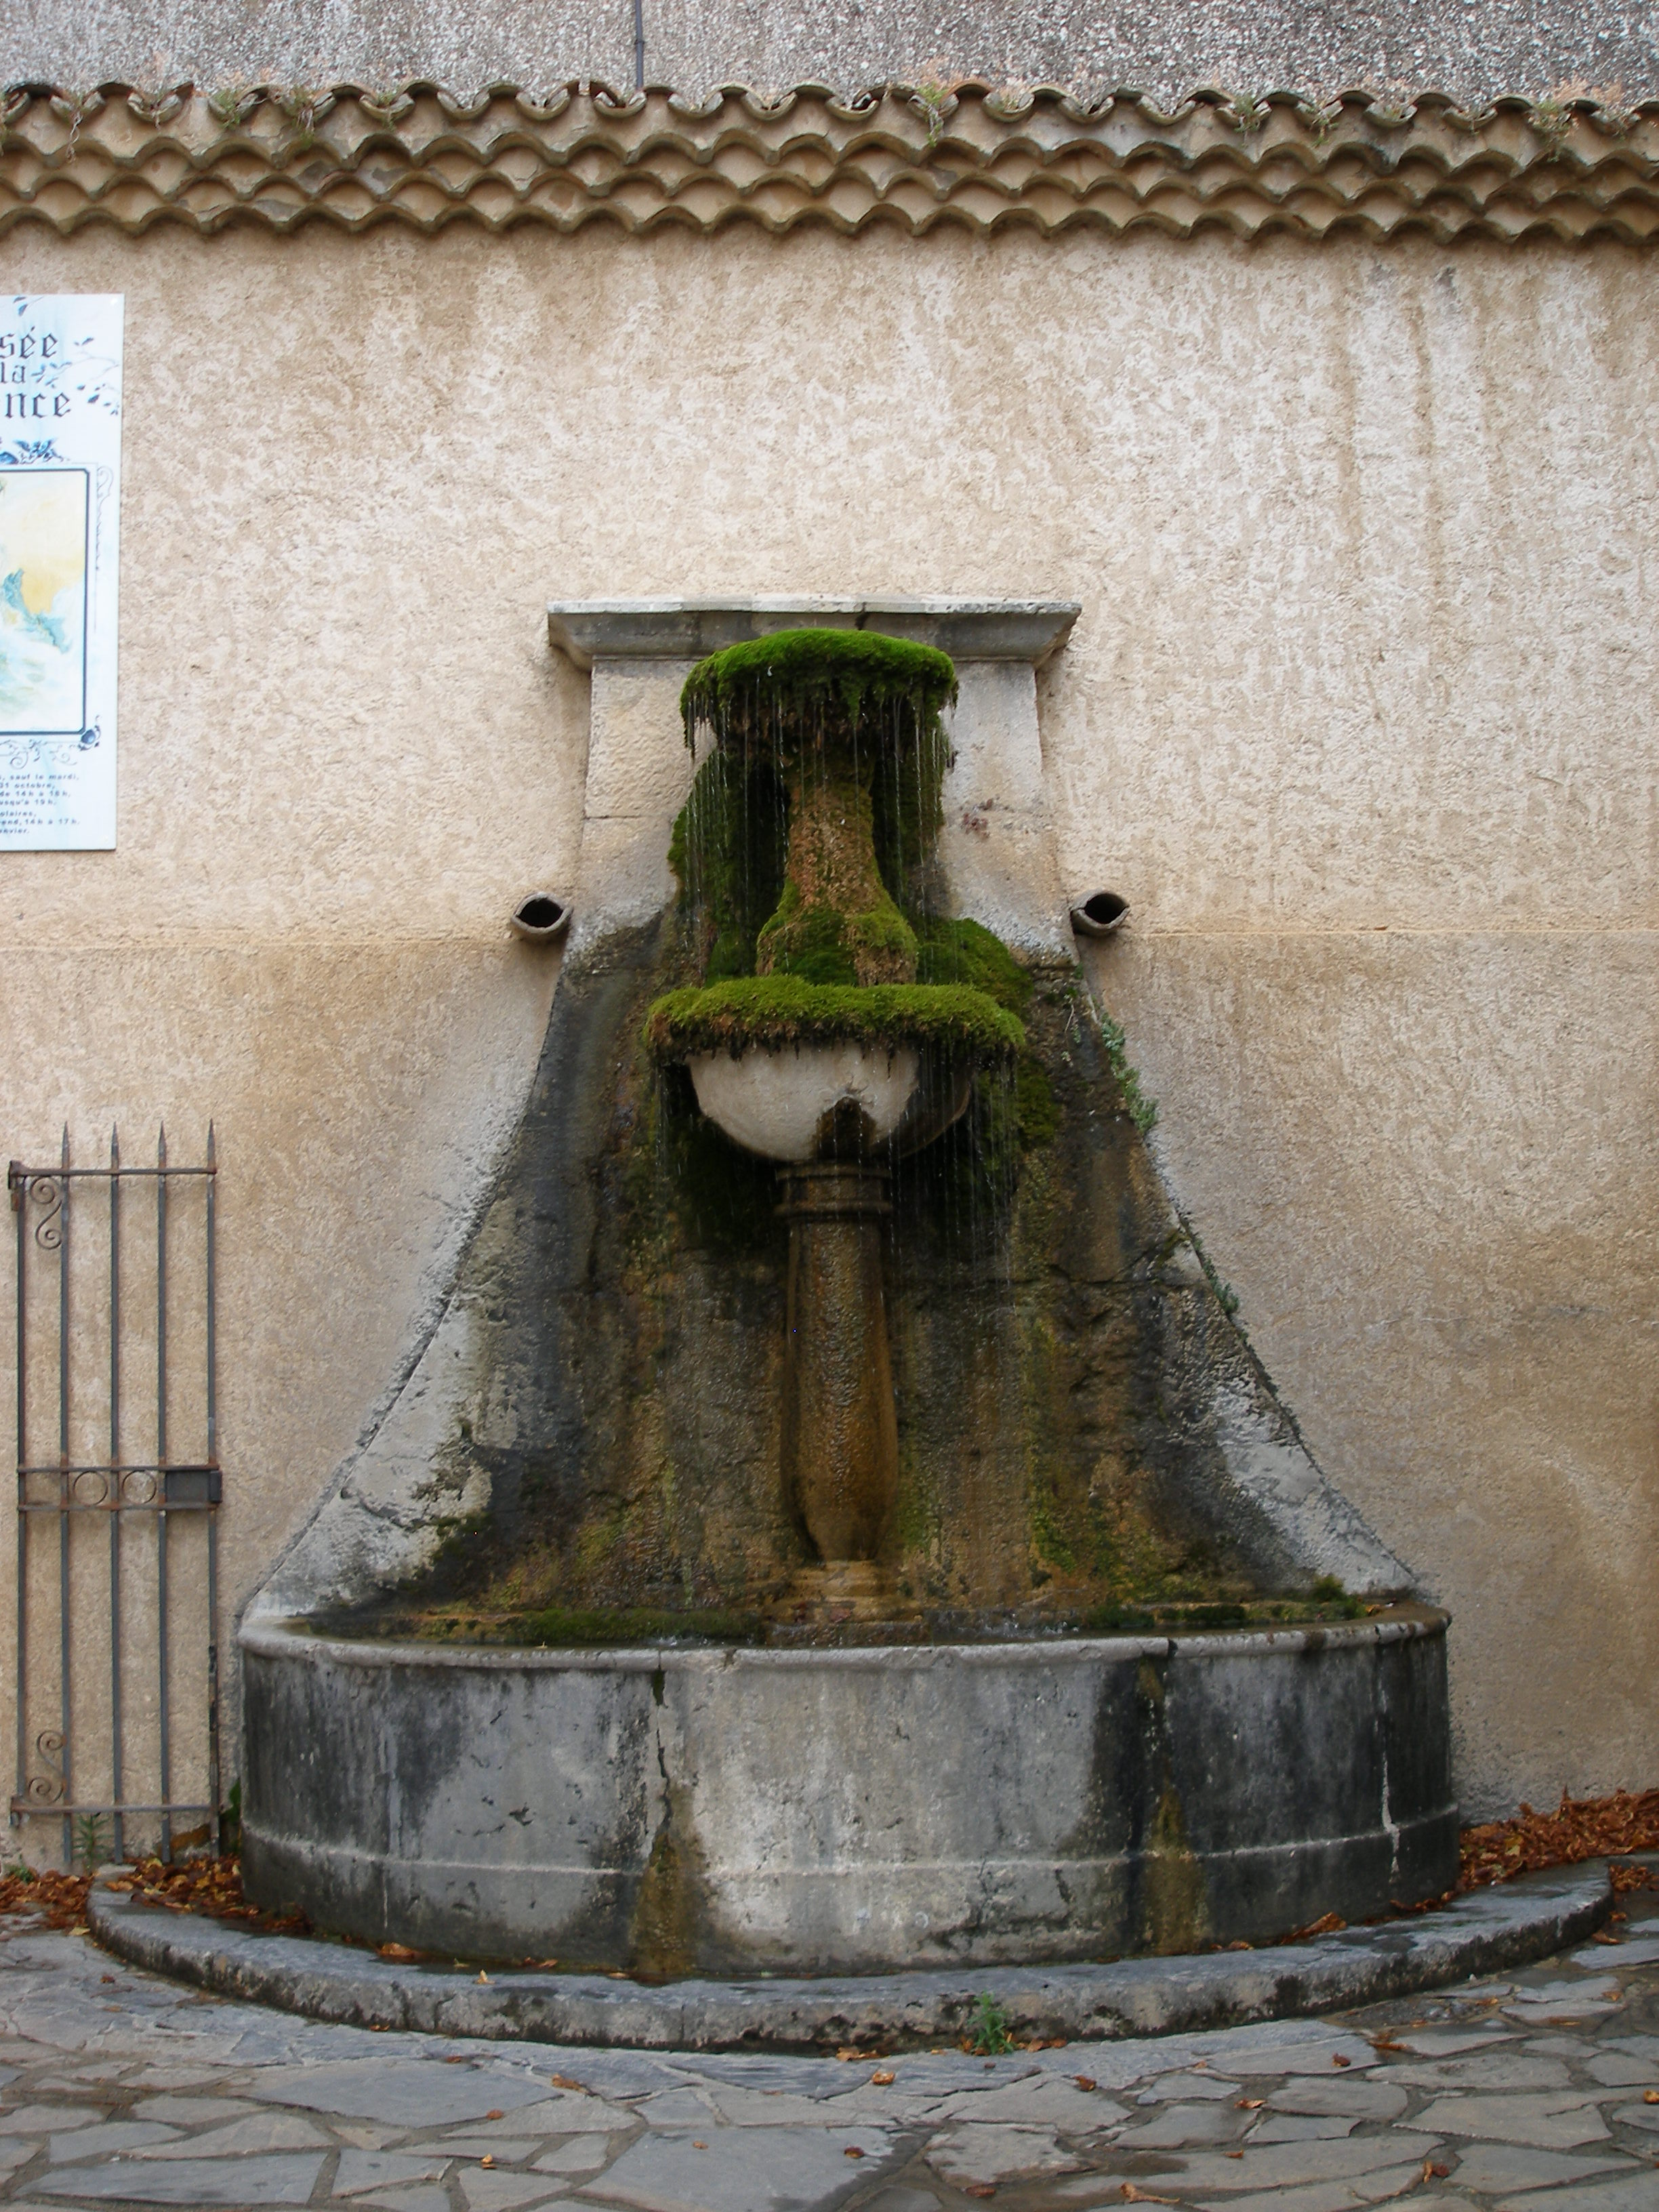
<svg viewBox="0 0 1659 2212"><path fill-rule="evenodd" d="M810 1551L783 1604L801 1621L900 1595L883 1557L894 1179L1024 1044L931 896L953 695L945 655L841 630L717 655L684 692L688 743L712 737L677 838L703 989L659 1000L646 1033L703 1113L783 1164L781 1484Z"/></svg>

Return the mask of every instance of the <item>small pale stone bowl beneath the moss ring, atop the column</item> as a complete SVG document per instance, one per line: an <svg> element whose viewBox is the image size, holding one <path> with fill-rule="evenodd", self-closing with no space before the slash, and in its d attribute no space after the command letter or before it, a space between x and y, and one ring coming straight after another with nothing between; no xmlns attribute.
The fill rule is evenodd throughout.
<svg viewBox="0 0 1659 2212"><path fill-rule="evenodd" d="M697 1104L710 1121L763 1159L807 1161L818 1155L825 1117L856 1106L867 1141L885 1144L905 1119L922 1073L914 1044L750 1044L743 1053L692 1053Z"/></svg>

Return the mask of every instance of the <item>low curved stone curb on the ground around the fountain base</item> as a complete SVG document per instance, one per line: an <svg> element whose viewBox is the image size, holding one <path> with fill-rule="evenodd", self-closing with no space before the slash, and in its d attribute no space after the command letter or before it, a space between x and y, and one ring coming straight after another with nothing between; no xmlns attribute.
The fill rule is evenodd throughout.
<svg viewBox="0 0 1659 2212"><path fill-rule="evenodd" d="M250 1933L106 1889L91 1893L86 1918L104 1949L133 1966L341 2026L635 2051L823 2053L956 2042L987 1991L1015 2039L1175 2035L1345 2011L1548 1958L1582 1942L1610 1909L1608 1869L1590 1860L1267 1951L657 1986L591 1973L482 1982L319 1938Z"/></svg>

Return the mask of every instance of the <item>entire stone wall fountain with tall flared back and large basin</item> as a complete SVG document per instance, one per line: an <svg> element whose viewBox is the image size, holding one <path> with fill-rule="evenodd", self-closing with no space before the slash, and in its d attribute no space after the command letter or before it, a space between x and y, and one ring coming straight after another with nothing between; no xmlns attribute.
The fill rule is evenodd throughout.
<svg viewBox="0 0 1659 2212"><path fill-rule="evenodd" d="M252 1896L677 1975L1449 1885L1444 1615L1223 1312L1077 967L1073 615L553 611L571 949L447 1305L243 1626Z"/></svg>

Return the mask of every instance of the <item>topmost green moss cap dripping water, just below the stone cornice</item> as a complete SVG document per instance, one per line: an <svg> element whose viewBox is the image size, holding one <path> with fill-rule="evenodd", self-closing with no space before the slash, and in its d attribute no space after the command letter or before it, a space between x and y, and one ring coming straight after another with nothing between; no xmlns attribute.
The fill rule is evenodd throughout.
<svg viewBox="0 0 1659 2212"><path fill-rule="evenodd" d="M679 712L686 743L708 728L732 737L776 737L783 719L845 719L854 728L883 714L916 728L938 723L956 699L956 668L933 646L876 630L776 630L726 653L710 653L686 677Z"/></svg>

